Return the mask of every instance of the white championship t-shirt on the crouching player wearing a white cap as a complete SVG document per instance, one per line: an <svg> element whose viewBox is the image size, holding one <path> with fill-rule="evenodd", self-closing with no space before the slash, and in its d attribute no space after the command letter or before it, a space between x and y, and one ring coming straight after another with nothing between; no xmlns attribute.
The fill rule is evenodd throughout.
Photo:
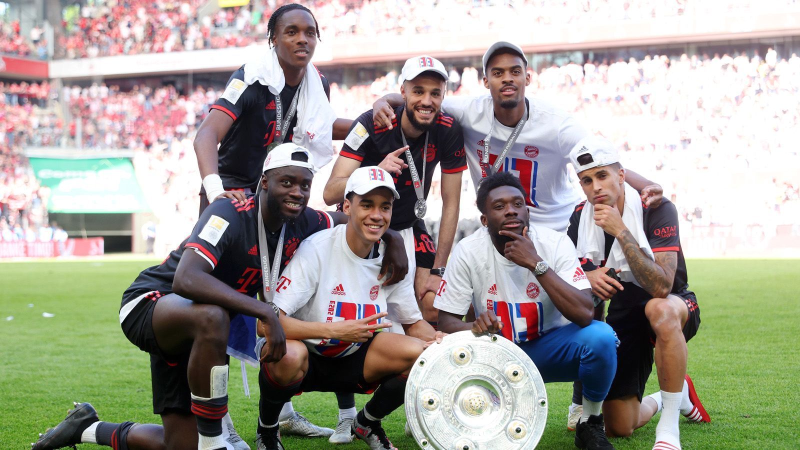
<svg viewBox="0 0 800 450"><path fill-rule="evenodd" d="M378 246L378 257L360 258L347 245L346 227L318 231L300 243L275 286L274 303L286 315L306 322L363 319L383 311L399 323L422 320L414 298L414 277L382 286L378 273L386 244ZM361 347L338 340L304 342L310 352L330 357L351 355Z"/></svg>

